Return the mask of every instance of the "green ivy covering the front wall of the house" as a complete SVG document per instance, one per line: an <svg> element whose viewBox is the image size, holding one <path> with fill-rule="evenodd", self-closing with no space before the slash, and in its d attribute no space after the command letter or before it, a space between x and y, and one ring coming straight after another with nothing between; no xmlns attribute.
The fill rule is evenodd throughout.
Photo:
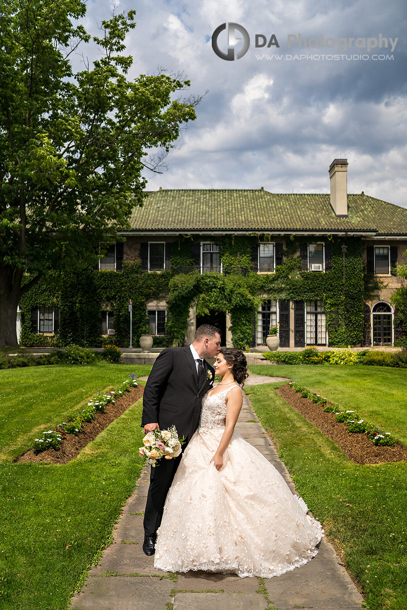
<svg viewBox="0 0 407 610"><path fill-rule="evenodd" d="M199 238L197 238L199 239ZM321 238L287 238L282 251L283 265L273 274L252 271L252 252L257 243L270 240L270 235L247 237L226 236L218 242L226 273L200 274L197 265L197 239L180 238L171 245L171 270L147 273L138 262L124 262L123 271L85 271L53 274L34 287L21 301L23 345L97 346L100 336L100 304L114 312L114 342L130 343L128 301L133 301L133 345L147 325L146 301L167 301L166 336L156 337L155 346L183 345L189 308L196 306L197 315L210 311L229 312L233 344L239 348L250 345L255 311L262 299L307 301L322 299L325 303L326 325L332 346L356 345L363 339L364 274L362 242L347 238L347 253L342 255L343 240L323 239L330 248L330 269L325 273L301 270L301 245L321 242ZM273 237L274 240L274 237ZM185 268L189 273L179 273ZM175 272L175 270L177 270ZM343 278L345 277L345 281ZM31 332L31 309L35 306L59 307L59 335L45 337Z"/></svg>

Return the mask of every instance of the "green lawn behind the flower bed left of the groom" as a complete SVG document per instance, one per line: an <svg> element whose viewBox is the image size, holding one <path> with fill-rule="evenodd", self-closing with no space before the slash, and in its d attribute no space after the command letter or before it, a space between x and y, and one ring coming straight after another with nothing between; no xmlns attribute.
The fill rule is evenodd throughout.
<svg viewBox="0 0 407 610"><path fill-rule="evenodd" d="M53 365L0 371L0 462L32 446L40 432L55 428L98 390L116 387L130 373L148 375L149 366Z"/></svg>

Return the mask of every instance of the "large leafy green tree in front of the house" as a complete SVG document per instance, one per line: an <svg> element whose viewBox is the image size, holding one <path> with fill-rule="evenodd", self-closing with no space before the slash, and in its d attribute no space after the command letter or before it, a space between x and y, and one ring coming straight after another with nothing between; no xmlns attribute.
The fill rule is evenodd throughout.
<svg viewBox="0 0 407 610"><path fill-rule="evenodd" d="M0 346L17 344L20 297L47 271L95 264L142 203L147 151L166 154L196 118L199 99L175 97L182 76L127 79L134 11L102 21L100 59L73 74L85 12L0 0Z"/></svg>

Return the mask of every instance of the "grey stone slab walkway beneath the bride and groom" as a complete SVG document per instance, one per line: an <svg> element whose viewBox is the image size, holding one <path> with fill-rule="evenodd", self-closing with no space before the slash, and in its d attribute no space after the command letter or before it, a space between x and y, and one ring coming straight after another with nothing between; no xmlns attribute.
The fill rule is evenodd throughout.
<svg viewBox="0 0 407 610"><path fill-rule="evenodd" d="M281 381L251 375L248 385ZM278 458L251 403L244 397L236 425L240 434L277 468L296 493L287 468ZM292 572L262 580L234 575L187 572L171 575L154 569L142 551L143 512L149 470L142 470L133 495L114 529L114 540L92 568L70 610L358 610L363 598L332 545L321 541L317 556Z"/></svg>

